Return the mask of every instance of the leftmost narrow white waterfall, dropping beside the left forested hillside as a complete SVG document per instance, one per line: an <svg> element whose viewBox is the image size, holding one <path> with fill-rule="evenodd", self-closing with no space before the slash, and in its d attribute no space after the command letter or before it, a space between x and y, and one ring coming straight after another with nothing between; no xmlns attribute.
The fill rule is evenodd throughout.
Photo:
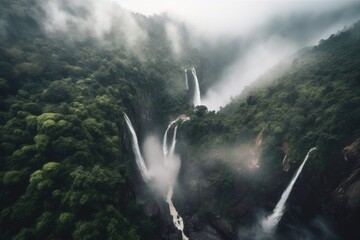
<svg viewBox="0 0 360 240"><path fill-rule="evenodd" d="M143 180L145 182L148 182L150 180L150 177L149 177L146 165L145 165L144 158L143 158L143 156L141 155L141 152L140 152L139 142L138 142L138 139L137 139L137 136L136 136L136 132L134 130L134 127L131 124L131 121L130 121L129 117L126 115L126 113L124 113L124 118L125 118L126 124L127 124L128 128L130 130L130 133L131 133L132 149L133 149L133 152L134 152L134 155L135 155L136 164L137 164L137 166L138 166L138 168L140 170L140 173L141 173L141 176L142 176Z"/></svg>

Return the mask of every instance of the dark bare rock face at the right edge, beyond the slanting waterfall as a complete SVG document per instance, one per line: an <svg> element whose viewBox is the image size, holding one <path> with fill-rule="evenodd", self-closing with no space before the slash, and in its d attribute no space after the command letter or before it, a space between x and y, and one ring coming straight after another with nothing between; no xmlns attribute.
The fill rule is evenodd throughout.
<svg viewBox="0 0 360 240"><path fill-rule="evenodd" d="M333 192L333 211L348 239L360 239L360 139L343 152L350 173Z"/></svg>

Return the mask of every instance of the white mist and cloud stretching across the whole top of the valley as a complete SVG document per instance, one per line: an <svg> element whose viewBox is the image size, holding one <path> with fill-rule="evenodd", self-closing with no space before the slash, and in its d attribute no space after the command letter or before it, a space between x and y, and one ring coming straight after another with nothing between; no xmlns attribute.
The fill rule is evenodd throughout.
<svg viewBox="0 0 360 240"><path fill-rule="evenodd" d="M220 41L237 41L237 57L217 69L216 80L209 82L209 75L199 78L202 104L209 110L224 107L299 49L316 45L360 19L360 3L355 0L37 0L37 5L45 13L42 26L50 36L124 46L140 58L150 39L148 30L134 17L137 13L149 18L165 14L165 38L176 58L183 55L185 46L206 51L202 46L217 48ZM0 21L0 30L1 26ZM187 41L180 26L188 32Z"/></svg>

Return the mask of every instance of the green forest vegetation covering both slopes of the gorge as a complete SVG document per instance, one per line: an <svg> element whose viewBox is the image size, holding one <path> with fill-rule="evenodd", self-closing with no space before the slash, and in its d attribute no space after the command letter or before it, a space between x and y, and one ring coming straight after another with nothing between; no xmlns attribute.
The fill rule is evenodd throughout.
<svg viewBox="0 0 360 240"><path fill-rule="evenodd" d="M124 112L140 135L144 126L190 115L179 131L188 144L182 164L201 169L206 184L199 202L184 208L189 216L221 213L242 223L255 206L269 208L289 178L284 154L297 166L313 146L307 185L331 190L344 176L339 152L360 135L360 23L300 51L282 74L266 74L263 87L249 87L215 113L190 106L183 66L197 65L200 79L212 75L201 83L206 89L236 57L236 43L174 57L169 19L132 14L149 33L139 57L121 37L117 45L53 37L35 6L0 3L0 23L7 23L0 34L0 239L159 239L162 229L132 189L139 176ZM204 154L252 146L260 132L259 171L227 164L227 148ZM179 185L186 182L180 175ZM308 193L319 211L329 211L330 190Z"/></svg>

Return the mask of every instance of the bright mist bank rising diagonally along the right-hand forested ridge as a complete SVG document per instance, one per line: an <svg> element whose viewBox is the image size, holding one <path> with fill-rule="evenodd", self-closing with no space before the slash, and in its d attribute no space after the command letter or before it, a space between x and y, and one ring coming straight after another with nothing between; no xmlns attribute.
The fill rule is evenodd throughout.
<svg viewBox="0 0 360 240"><path fill-rule="evenodd" d="M290 56L299 49L316 45L359 20L359 9L359 4L351 4L328 11L325 8L314 12L314 9L305 8L303 12L271 16L266 24L240 37L243 42L237 59L203 93L203 104L210 110L219 110L272 67L284 59L291 60Z"/></svg>

